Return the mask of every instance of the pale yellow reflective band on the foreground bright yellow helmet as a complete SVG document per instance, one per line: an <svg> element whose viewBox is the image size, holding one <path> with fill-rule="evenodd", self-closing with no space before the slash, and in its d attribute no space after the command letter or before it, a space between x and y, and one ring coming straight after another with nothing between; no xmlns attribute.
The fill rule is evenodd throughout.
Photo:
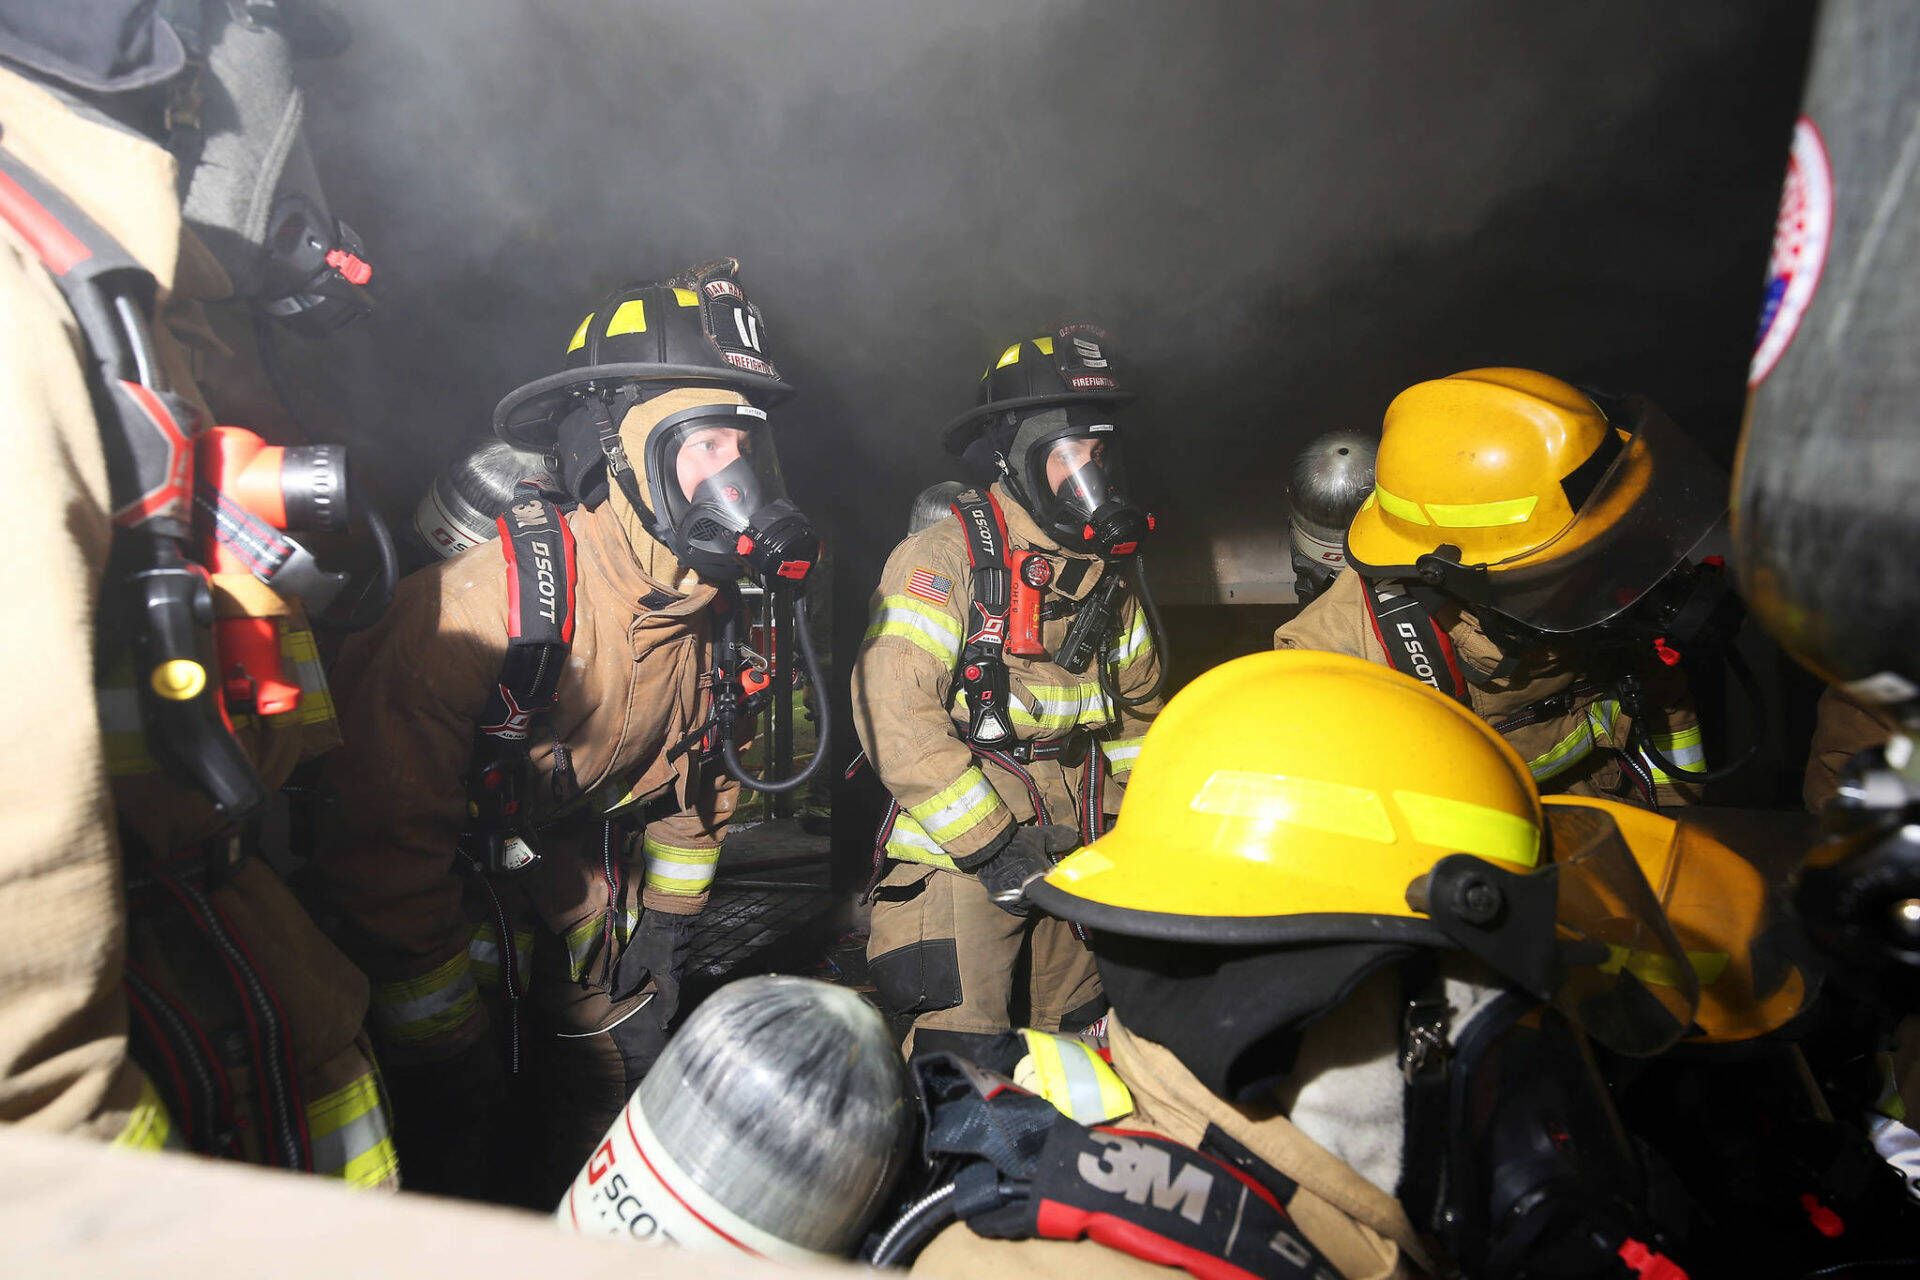
<svg viewBox="0 0 1920 1280"><path fill-rule="evenodd" d="M1405 833L1423 844L1526 867L1540 862L1540 829L1526 818L1419 791L1394 791L1392 798ZM1215 770L1188 808L1217 818L1283 821L1375 844L1400 839L1379 793L1315 777Z"/></svg>

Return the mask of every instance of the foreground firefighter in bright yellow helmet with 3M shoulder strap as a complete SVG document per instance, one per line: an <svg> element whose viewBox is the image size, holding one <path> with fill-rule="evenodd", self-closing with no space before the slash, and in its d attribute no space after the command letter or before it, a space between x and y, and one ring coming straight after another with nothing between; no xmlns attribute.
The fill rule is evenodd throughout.
<svg viewBox="0 0 1920 1280"><path fill-rule="evenodd" d="M1020 1036L1035 1105L979 1063L916 1059L952 1192L876 1261L925 1244L914 1270L962 1280L1663 1261L1582 1034L1659 1052L1699 984L1611 812L1544 808L1455 700L1344 654L1219 666L1146 735L1114 829L1027 896L1091 929L1112 1061Z"/></svg>

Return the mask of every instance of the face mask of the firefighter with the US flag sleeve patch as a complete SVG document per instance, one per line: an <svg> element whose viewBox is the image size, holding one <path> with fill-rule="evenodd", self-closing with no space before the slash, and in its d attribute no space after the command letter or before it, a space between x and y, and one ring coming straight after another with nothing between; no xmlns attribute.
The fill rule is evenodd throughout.
<svg viewBox="0 0 1920 1280"><path fill-rule="evenodd" d="M1152 516L1125 493L1119 434L1096 409L1027 416L1014 434L1014 457L1010 480L1062 549L1112 560L1135 555L1152 532Z"/></svg>

